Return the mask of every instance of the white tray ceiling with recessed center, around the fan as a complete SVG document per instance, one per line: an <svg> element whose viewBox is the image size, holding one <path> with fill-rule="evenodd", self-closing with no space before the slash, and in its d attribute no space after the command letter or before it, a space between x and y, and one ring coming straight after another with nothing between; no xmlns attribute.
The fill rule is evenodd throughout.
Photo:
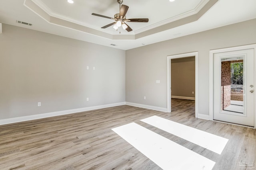
<svg viewBox="0 0 256 170"><path fill-rule="evenodd" d="M124 0L123 4L129 6L126 18L149 18L149 22L128 22L131 32L112 26L101 29L113 20L91 14L114 18L119 13L116 0L74 0L74 4L1 0L0 23L127 50L256 18L256 0Z"/></svg>

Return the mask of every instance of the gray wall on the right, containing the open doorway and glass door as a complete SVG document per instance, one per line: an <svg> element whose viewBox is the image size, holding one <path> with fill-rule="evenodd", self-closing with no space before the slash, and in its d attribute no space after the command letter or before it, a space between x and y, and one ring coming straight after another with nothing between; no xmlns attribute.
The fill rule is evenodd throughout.
<svg viewBox="0 0 256 170"><path fill-rule="evenodd" d="M128 50L126 102L166 108L167 56L198 51L198 113L208 115L209 51L254 43L256 19Z"/></svg>

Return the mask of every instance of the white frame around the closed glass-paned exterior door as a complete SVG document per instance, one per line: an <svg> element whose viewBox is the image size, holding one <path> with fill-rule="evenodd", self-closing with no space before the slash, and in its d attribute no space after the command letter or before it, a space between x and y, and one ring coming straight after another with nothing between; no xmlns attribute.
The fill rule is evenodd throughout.
<svg viewBox="0 0 256 170"><path fill-rule="evenodd" d="M209 53L209 119L212 121L213 121L213 108L214 108L214 105L213 105L213 97L214 97L214 94L213 94L213 89L214 89L214 86L213 86L213 81L214 81L213 58L214 58L214 53L224 53L224 52L229 52L229 51L239 51L239 50L246 50L246 49L254 49L254 85L256 85L256 78L255 78L255 76L256 76L256 44L210 50L210 53ZM255 101L256 101L256 95L254 94L254 102ZM229 124L233 124L233 123L229 123ZM254 128L255 127L256 127L256 106L254 105Z"/></svg>

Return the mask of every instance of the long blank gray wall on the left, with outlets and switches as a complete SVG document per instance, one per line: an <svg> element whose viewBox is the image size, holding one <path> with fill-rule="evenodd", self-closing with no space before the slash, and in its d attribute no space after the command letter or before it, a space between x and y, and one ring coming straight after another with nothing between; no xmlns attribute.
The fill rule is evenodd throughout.
<svg viewBox="0 0 256 170"><path fill-rule="evenodd" d="M2 29L0 119L125 102L125 51L6 24Z"/></svg>

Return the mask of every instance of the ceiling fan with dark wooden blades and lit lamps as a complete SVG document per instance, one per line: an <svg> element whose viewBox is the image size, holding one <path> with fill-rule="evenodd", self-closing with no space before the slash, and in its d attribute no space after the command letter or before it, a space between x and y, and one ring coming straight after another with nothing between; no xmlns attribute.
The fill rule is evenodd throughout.
<svg viewBox="0 0 256 170"><path fill-rule="evenodd" d="M132 28L129 27L126 22L148 22L148 18L134 18L134 19L126 19L126 13L128 11L129 6L126 5L122 5L123 0L117 0L118 4L119 4L119 8L120 8L120 12L114 15L114 18L108 17L108 16L102 16L100 14L94 14L92 13L92 15L94 16L99 16L99 17L103 17L103 18L109 18L111 20L115 20L113 23L110 23L108 25L105 25L101 28L107 28L110 27L111 25L114 25L114 29L118 29L118 27L122 26L123 29L126 29L126 31L130 32L132 31Z"/></svg>

